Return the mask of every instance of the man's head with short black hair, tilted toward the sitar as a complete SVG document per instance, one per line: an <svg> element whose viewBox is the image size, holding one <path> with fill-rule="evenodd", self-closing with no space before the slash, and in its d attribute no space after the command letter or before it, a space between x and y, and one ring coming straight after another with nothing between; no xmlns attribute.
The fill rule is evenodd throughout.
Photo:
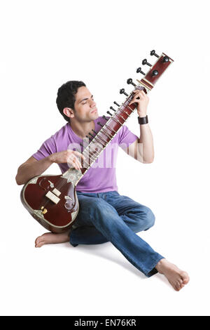
<svg viewBox="0 0 210 330"><path fill-rule="evenodd" d="M59 87L56 103L66 121L91 121L99 117L93 95L83 81L67 81Z"/></svg>

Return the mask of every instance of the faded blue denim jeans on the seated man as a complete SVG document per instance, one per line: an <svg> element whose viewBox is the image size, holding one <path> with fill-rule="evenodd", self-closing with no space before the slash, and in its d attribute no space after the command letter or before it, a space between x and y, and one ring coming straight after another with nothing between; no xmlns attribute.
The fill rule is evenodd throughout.
<svg viewBox="0 0 210 330"><path fill-rule="evenodd" d="M71 227L71 245L111 242L147 277L158 272L155 265L164 257L135 234L154 225L151 209L116 191L76 193L79 211Z"/></svg>

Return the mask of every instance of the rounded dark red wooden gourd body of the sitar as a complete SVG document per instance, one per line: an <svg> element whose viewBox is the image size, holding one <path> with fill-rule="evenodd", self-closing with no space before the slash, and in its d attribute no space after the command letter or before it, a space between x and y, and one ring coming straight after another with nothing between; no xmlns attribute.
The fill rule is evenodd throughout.
<svg viewBox="0 0 210 330"><path fill-rule="evenodd" d="M24 185L20 197L31 216L51 232L68 230L78 214L76 186L62 176L36 176Z"/></svg>

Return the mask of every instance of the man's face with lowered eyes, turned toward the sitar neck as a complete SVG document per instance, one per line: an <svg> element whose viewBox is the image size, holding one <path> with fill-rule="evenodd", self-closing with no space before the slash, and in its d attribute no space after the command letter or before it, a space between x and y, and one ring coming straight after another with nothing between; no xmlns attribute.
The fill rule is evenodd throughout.
<svg viewBox="0 0 210 330"><path fill-rule="evenodd" d="M75 111L73 112L75 119L78 121L91 121L99 117L93 95L87 87L79 87L75 98Z"/></svg>

